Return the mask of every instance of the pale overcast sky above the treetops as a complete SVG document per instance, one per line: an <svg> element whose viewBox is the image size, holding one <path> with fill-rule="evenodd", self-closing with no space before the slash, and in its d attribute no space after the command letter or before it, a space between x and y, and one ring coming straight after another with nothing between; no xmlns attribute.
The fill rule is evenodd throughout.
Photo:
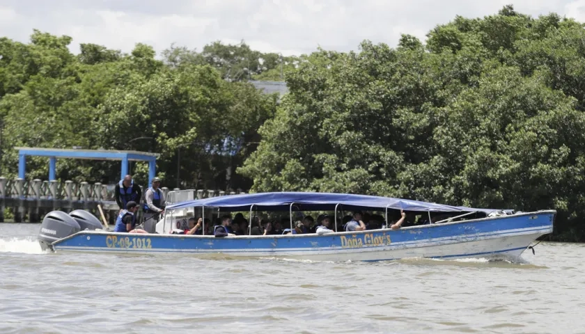
<svg viewBox="0 0 585 334"><path fill-rule="evenodd" d="M143 42L160 52L173 42L201 49L245 40L289 55L318 46L355 50L364 39L396 46L401 33L424 39L455 15L492 15L507 3L534 17L555 12L585 21L585 0L0 0L0 36L70 35L75 53L84 42L125 52Z"/></svg>

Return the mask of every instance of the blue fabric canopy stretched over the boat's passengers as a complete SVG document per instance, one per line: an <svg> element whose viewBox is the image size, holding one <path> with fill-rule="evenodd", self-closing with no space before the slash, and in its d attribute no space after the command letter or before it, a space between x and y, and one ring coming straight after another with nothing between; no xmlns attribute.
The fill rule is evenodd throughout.
<svg viewBox="0 0 585 334"><path fill-rule="evenodd" d="M189 200L169 205L166 209L182 209L187 207L214 207L225 212L247 211L288 211L290 205L293 211L297 210L334 210L337 205L340 209L403 209L419 212L490 212L498 209L474 209L470 207L453 207L419 200L403 200L368 195L352 195L348 193L249 193L244 195L219 196Z"/></svg>

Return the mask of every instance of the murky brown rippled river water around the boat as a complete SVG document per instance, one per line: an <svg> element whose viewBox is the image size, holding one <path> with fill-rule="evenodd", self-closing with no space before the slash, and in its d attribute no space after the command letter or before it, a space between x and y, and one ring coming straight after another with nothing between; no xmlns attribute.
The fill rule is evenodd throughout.
<svg viewBox="0 0 585 334"><path fill-rule="evenodd" d="M0 224L0 333L585 333L581 244L524 262L47 254Z"/></svg>

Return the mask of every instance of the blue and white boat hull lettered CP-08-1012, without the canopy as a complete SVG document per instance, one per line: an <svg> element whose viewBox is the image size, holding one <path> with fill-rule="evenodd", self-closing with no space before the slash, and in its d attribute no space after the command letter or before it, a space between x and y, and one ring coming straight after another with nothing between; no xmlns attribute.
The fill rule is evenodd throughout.
<svg viewBox="0 0 585 334"><path fill-rule="evenodd" d="M552 232L554 211L472 221L325 235L215 238L173 234L82 231L53 243L57 252L224 253L318 261L380 261L405 257L497 257L515 260L532 241Z"/></svg>

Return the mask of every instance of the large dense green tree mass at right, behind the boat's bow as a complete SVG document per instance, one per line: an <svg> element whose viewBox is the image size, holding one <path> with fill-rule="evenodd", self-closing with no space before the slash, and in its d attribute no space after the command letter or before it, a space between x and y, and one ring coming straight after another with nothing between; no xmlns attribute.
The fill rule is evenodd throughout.
<svg viewBox="0 0 585 334"><path fill-rule="evenodd" d="M452 205L557 209L585 235L585 31L504 7L455 17L426 45L320 50L239 173L253 191L334 191ZM575 240L574 239L574 240Z"/></svg>

